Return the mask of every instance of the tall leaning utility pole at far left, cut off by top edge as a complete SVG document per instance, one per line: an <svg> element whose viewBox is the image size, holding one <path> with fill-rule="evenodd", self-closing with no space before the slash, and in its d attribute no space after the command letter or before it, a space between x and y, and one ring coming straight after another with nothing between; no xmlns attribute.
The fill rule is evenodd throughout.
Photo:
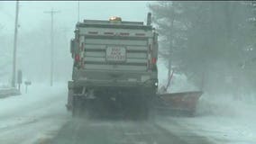
<svg viewBox="0 0 256 144"><path fill-rule="evenodd" d="M17 35L18 35L18 18L19 18L19 1L16 1L16 16L14 25L14 58L13 58L13 79L12 86L16 83L16 50L17 50Z"/></svg>

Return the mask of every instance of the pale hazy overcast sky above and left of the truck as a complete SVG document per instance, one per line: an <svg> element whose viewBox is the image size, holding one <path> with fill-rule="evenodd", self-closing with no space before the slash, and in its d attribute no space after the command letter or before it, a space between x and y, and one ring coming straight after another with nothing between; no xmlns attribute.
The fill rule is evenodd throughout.
<svg viewBox="0 0 256 144"><path fill-rule="evenodd" d="M69 53L69 40L74 37L75 24L78 22L78 1L20 1L19 30L17 46L17 68L23 76L35 81L49 80L50 74L50 11L54 14L54 79L70 79L72 59ZM120 16L123 21L146 22L149 12L147 1L80 1L79 21L84 19L108 20L110 16ZM0 66L5 78L11 79L15 1L0 1ZM61 32L60 32L61 31ZM48 47L49 46L49 47ZM36 53L33 51L36 49ZM3 61L3 59L5 59ZM61 73L65 71L65 73ZM42 74L45 74L41 76ZM61 74L61 75L60 75ZM0 77L1 78L1 77ZM3 81L7 81L3 79ZM1 79L0 79L1 81Z"/></svg>

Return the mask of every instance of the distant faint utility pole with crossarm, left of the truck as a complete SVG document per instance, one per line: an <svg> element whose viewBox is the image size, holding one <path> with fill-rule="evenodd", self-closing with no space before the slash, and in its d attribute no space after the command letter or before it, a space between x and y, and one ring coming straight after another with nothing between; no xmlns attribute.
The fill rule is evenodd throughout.
<svg viewBox="0 0 256 144"><path fill-rule="evenodd" d="M59 13L59 11L51 11L44 12L45 14L50 14L51 17L51 27L50 27L50 86L53 84L53 14Z"/></svg>

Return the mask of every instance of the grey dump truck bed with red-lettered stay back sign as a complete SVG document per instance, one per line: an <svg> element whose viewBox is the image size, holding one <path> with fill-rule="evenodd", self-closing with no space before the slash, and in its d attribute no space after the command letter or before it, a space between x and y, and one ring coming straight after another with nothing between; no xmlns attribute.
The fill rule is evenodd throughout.
<svg viewBox="0 0 256 144"><path fill-rule="evenodd" d="M157 81L150 69L154 33L143 23L85 20L77 24L82 68L73 80L90 85L142 85ZM154 83L152 82L152 83Z"/></svg>

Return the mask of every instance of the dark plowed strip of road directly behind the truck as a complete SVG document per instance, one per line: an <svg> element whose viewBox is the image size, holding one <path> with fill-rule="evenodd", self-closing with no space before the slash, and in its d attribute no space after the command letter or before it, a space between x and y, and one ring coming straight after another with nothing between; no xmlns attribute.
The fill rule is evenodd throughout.
<svg viewBox="0 0 256 144"><path fill-rule="evenodd" d="M178 129L175 129L178 130ZM187 140L187 139L190 140ZM195 134L174 135L149 121L85 121L67 122L47 144L208 144Z"/></svg>

